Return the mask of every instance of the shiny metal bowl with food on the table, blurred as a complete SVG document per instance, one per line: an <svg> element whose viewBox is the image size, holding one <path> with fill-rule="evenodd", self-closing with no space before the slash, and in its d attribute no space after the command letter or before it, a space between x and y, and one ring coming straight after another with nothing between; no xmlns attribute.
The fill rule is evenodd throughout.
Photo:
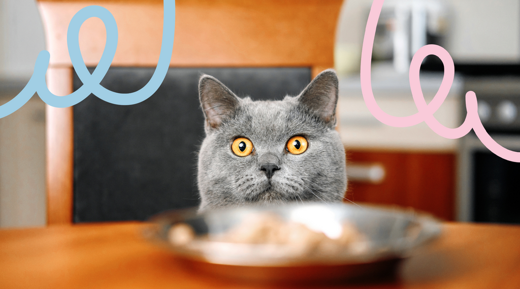
<svg viewBox="0 0 520 289"><path fill-rule="evenodd" d="M441 233L428 215L349 204L193 208L151 221L151 240L166 245L183 268L248 284L373 278L395 272Z"/></svg>

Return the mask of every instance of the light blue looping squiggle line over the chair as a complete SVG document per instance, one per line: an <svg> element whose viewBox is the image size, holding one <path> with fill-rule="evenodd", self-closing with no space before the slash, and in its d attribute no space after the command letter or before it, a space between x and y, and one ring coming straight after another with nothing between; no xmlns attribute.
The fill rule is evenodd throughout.
<svg viewBox="0 0 520 289"><path fill-rule="evenodd" d="M148 99L157 91L163 82L172 59L175 35L175 0L164 0L163 5L164 20L161 53L152 78L143 88L133 93L120 94L114 93L114 91L108 90L99 84L107 74L110 64L112 64L112 60L114 59L115 49L118 46L118 25L110 11L106 8L101 6L87 6L72 17L67 30L67 47L69 49L72 66L83 82L83 85L68 96L56 96L51 93L45 82L45 73L49 67L50 54L47 50L43 50L38 54L38 58L34 64L34 72L27 85L25 85L16 97L0 106L0 118L17 111L23 104L31 99L34 93L37 93L45 103L57 108L73 106L89 96L90 93L102 100L122 106L136 104ZM107 31L105 50L103 50L101 59L92 75L88 72L85 61L81 56L79 42L81 25L85 20L91 17L101 19Z"/></svg>

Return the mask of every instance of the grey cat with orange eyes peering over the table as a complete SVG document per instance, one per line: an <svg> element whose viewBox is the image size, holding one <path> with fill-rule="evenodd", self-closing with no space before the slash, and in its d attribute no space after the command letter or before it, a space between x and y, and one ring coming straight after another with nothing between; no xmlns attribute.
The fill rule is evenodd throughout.
<svg viewBox="0 0 520 289"><path fill-rule="evenodd" d="M337 90L335 72L326 70L296 97L252 101L203 75L199 210L340 202L347 178L345 151L334 129Z"/></svg>

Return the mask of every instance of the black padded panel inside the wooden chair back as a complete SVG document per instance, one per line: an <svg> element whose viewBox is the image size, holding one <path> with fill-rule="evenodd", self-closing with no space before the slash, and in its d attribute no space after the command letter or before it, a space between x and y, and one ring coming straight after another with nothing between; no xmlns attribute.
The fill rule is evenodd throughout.
<svg viewBox="0 0 520 289"><path fill-rule="evenodd" d="M111 68L101 85L119 93L145 86L153 68ZM96 97L74 111L73 220L144 220L199 204L197 154L204 137L201 73L239 95L282 99L310 81L307 68L170 68L147 100L117 106ZM82 83L74 75L74 90Z"/></svg>

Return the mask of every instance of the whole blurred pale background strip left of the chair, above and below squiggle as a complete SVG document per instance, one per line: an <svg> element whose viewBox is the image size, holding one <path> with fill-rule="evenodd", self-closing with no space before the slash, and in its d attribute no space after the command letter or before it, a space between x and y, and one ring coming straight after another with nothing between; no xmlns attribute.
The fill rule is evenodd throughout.
<svg viewBox="0 0 520 289"><path fill-rule="evenodd" d="M0 0L0 104L23 88L43 49L34 0ZM34 96L0 119L0 227L46 224L44 109Z"/></svg>

